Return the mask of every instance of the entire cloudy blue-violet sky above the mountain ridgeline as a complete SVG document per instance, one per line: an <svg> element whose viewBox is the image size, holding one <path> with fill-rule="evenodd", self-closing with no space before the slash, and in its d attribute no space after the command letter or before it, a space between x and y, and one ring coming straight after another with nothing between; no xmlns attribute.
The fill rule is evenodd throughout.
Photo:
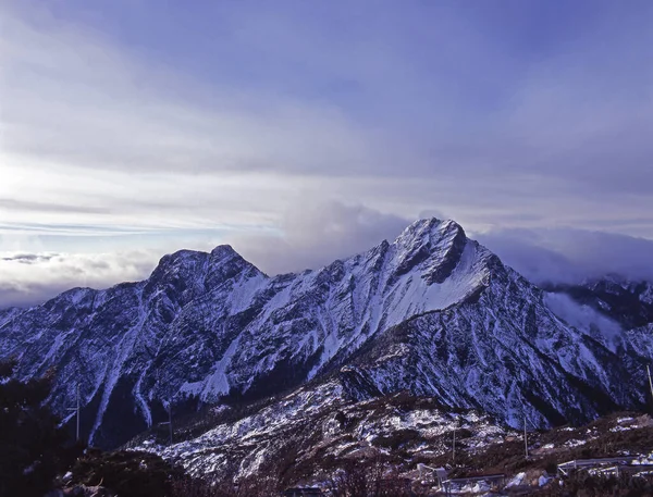
<svg viewBox="0 0 653 497"><path fill-rule="evenodd" d="M454 219L653 277L653 2L0 1L0 308L231 244L269 274Z"/></svg>

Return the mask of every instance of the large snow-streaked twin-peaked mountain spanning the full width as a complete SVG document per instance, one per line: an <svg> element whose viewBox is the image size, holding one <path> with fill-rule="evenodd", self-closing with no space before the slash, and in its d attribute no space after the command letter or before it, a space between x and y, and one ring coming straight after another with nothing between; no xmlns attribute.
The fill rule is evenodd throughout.
<svg viewBox="0 0 653 497"><path fill-rule="evenodd" d="M574 326L463 227L431 219L274 277L229 246L182 250L146 281L0 315L0 358L16 357L22 378L56 368L61 413L79 385L83 434L114 447L169 402L192 411L332 382L347 401L408 390L512 426L586 421L645 402L652 336Z"/></svg>

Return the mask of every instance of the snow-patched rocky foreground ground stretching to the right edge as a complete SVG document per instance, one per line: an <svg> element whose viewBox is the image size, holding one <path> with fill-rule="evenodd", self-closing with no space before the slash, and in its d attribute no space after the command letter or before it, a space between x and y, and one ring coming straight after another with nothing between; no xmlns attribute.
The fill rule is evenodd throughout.
<svg viewBox="0 0 653 497"><path fill-rule="evenodd" d="M574 459L638 456L632 463L653 463L648 415L624 413L582 427L529 430L527 459L522 431L475 411L451 412L433 398L406 394L346 402L337 400L336 388L333 382L300 389L236 421L225 417L229 421L220 422L229 411L222 408L212 413L214 427L199 436L169 446L162 445L162 432L152 431L132 447L157 452L197 476L244 481L281 475L287 486L325 486L352 461L383 461L386 473L429 492L440 487L435 468L444 468L448 479L505 474L496 485L453 482L451 493L558 485L556 465ZM194 426L187 426L175 436L192 433Z"/></svg>

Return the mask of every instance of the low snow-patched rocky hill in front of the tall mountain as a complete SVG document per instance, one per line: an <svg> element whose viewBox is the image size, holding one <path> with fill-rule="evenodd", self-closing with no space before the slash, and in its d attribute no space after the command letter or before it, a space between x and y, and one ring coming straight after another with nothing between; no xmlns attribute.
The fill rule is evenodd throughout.
<svg viewBox="0 0 653 497"><path fill-rule="evenodd" d="M185 442L164 446L158 443L164 437L148 433L131 448L157 452L198 476L279 475L289 486L323 481L343 462L362 462L379 452L412 469L417 460L447 458L454 431L458 451L515 435L486 415L452 411L433 397L398 393L356 401L343 394L337 381L299 387L247 415L233 418L230 408L221 408L213 414L217 426L199 436L188 437L178 428L176 436L189 438Z"/></svg>

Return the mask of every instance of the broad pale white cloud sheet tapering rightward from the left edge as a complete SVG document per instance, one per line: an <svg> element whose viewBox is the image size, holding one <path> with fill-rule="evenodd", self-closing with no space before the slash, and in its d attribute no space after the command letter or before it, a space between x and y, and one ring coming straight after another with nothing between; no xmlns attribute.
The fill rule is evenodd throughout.
<svg viewBox="0 0 653 497"><path fill-rule="evenodd" d="M270 226L320 175L385 160L329 102L207 85L45 8L2 9L7 231Z"/></svg>

